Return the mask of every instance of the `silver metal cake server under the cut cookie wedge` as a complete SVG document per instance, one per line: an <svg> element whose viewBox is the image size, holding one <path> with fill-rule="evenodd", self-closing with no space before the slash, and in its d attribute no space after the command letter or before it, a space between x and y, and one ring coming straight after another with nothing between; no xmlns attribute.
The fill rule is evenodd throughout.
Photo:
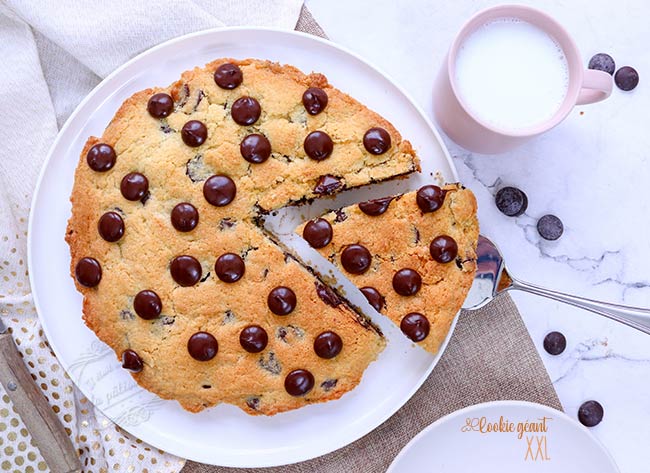
<svg viewBox="0 0 650 473"><path fill-rule="evenodd" d="M497 294L516 289L590 310L650 335L650 309L626 307L563 294L516 279L508 272L499 249L483 235L478 238L476 254L476 276L463 309L478 309L490 302Z"/></svg>

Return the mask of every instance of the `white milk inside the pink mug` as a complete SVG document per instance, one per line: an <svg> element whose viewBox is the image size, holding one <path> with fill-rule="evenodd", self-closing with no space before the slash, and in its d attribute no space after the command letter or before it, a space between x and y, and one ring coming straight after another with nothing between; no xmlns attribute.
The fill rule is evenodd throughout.
<svg viewBox="0 0 650 473"><path fill-rule="evenodd" d="M560 45L516 18L491 21L458 49L456 86L481 121L505 130L542 123L560 108L569 67Z"/></svg>

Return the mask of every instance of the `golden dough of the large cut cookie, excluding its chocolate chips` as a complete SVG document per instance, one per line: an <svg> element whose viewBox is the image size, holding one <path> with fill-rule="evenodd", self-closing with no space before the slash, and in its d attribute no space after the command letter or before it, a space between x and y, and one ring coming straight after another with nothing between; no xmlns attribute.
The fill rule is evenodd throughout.
<svg viewBox="0 0 650 473"><path fill-rule="evenodd" d="M234 90L219 88L213 79L215 69L226 62L237 64L244 74ZM308 115L301 102L311 86L329 96L327 108L316 116ZM158 92L176 101L166 119L147 112L147 101ZM230 117L232 103L244 95L255 97L262 108L260 119L248 127ZM188 120L208 127L208 139L198 148L181 139ZM365 131L376 126L392 139L388 152L379 156L362 144ZM334 141L332 155L321 162L306 157L303 149L305 136L314 130L327 132ZM250 164L240 154L239 143L249 133L262 133L272 143L273 154L263 164ZM86 163L86 153L96 143L111 145L117 154L107 172L95 172ZM74 277L77 262L87 256L102 266L97 287L75 281L84 296L84 320L118 357L126 349L140 355L144 369L134 378L141 386L192 412L225 402L250 414L272 415L339 398L359 383L384 339L359 323L359 315L346 303L333 307L323 301L314 276L287 258L255 219L260 211L319 197L314 187L323 175L336 176L340 191L417 170L410 143L321 74L305 75L292 66L255 59L220 59L183 73L167 88L138 92L122 104L101 137L88 139L75 172L66 234L71 272ZM122 177L130 172L149 180L144 203L128 201L120 193ZM213 174L226 174L237 185L236 198L225 207L210 205L202 195L204 180ZM188 233L170 223L170 212L180 202L190 202L199 212L198 226ZM98 219L109 211L125 223L124 236L116 243L97 232ZM236 283L215 276L215 260L226 252L245 260L245 275ZM205 280L192 287L180 287L168 269L170 260L183 254L202 266ZM298 305L287 316L272 314L266 305L266 295L278 285L297 294ZM135 314L133 298L145 289L162 300L157 319ZM267 348L258 354L239 344L241 329L253 323L269 335ZM343 339L343 350L334 359L314 353L314 338L324 330ZM210 332L219 342L210 361L188 354L187 340L197 331ZM298 368L308 369L315 385L308 394L294 397L285 391L284 379Z"/></svg>

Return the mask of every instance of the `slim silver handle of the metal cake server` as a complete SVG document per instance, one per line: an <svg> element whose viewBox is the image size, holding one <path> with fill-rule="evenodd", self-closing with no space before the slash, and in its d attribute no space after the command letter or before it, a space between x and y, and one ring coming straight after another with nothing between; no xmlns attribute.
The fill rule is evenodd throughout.
<svg viewBox="0 0 650 473"><path fill-rule="evenodd" d="M581 309L595 312L596 314L616 320L617 322L621 322L650 335L650 309L627 307L624 305L611 304L609 302L595 301L593 299L553 291L551 289L546 289L515 279L512 280L512 284L508 289L530 292L531 294L537 294L538 296L548 297L549 299L580 307Z"/></svg>

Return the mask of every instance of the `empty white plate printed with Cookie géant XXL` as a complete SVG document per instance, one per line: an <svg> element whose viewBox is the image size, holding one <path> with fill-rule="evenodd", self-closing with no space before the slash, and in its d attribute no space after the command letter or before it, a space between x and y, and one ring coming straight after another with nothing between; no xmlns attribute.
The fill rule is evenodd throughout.
<svg viewBox="0 0 650 473"><path fill-rule="evenodd" d="M618 473L607 450L563 412L523 401L477 404L416 435L386 473Z"/></svg>

